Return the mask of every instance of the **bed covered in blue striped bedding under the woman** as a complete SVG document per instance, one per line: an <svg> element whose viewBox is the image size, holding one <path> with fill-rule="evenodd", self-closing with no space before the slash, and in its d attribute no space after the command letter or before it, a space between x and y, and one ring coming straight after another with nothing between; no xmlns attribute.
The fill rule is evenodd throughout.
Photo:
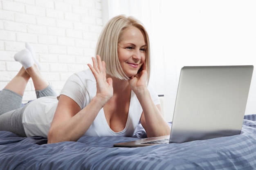
<svg viewBox="0 0 256 170"><path fill-rule="evenodd" d="M171 125L171 123L169 123ZM47 144L47 139L0 131L0 170L254 170L256 115L245 115L240 135L116 148L117 142L146 136L139 124L133 137L81 137Z"/></svg>

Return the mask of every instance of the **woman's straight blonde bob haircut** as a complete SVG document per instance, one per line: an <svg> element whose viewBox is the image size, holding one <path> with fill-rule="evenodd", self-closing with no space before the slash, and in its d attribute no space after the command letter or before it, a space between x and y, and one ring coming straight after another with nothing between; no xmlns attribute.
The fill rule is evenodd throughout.
<svg viewBox="0 0 256 170"><path fill-rule="evenodd" d="M118 15L108 21L106 26L103 28L99 37L96 54L101 56L102 61L106 62L106 73L112 77L116 77L122 80L128 80L121 68L117 55L117 45L120 38L126 29L135 26L144 35L146 41L146 66L149 81L150 77L150 43L146 29L139 20L133 17L126 17L126 15Z"/></svg>

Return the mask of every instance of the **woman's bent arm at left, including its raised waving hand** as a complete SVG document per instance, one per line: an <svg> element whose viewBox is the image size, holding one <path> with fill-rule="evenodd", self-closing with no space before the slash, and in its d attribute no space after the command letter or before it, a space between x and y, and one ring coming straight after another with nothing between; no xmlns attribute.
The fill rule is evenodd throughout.
<svg viewBox="0 0 256 170"><path fill-rule="evenodd" d="M60 95L58 106L48 133L48 143L77 141L91 126L101 108L113 95L112 79L106 79L106 65L97 55L92 57L93 66L88 64L96 82L97 93L91 102L81 110L70 97Z"/></svg>

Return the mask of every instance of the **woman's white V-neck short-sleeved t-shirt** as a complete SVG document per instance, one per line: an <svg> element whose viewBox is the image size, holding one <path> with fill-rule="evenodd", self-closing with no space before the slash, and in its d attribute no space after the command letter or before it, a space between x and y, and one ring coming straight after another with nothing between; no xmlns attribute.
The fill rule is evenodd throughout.
<svg viewBox="0 0 256 170"><path fill-rule="evenodd" d="M157 93L153 88L148 86L148 90L150 91L153 102L156 105L160 104ZM90 69L87 69L70 76L61 91L61 95L70 97L80 106L81 109L83 109L96 95L96 91L96 80ZM56 97L41 97L31 102L27 108L25 108L22 123L28 137L36 135L47 137L57 104L58 100ZM135 93L132 91L128 118L124 130L121 132L114 132L111 130L108 126L102 108L84 135L99 137L132 136L137 124L139 123L141 113L141 105Z"/></svg>

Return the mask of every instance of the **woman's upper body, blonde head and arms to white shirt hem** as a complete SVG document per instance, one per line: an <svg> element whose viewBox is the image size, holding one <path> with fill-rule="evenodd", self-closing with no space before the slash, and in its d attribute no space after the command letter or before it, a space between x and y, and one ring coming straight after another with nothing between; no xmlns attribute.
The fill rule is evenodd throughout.
<svg viewBox="0 0 256 170"><path fill-rule="evenodd" d="M43 136L49 130L48 143L83 135L132 136L139 121L148 137L169 135L158 96L148 86L149 45L139 21L112 18L100 35L93 66L72 75L58 100L41 97L28 104L22 119L26 135Z"/></svg>

